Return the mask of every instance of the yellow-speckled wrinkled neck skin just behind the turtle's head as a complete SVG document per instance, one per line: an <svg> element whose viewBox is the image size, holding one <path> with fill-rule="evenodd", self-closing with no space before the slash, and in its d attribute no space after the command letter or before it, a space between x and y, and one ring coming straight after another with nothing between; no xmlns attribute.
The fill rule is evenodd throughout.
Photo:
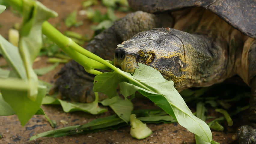
<svg viewBox="0 0 256 144"><path fill-rule="evenodd" d="M231 76L227 70L228 44L204 34L189 34L175 29L167 29L183 44L182 59L177 73L168 74L159 70L167 80L173 80L178 91L190 87L205 87L222 82ZM230 76L228 76L230 75Z"/></svg>

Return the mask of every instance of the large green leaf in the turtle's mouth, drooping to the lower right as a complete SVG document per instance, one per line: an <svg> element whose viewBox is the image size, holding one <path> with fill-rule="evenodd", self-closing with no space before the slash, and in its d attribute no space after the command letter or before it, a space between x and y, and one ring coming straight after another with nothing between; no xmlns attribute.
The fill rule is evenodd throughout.
<svg viewBox="0 0 256 144"><path fill-rule="evenodd" d="M180 125L194 134L197 134L204 141L212 141L212 133L208 125L193 115L178 91L173 87L173 82L164 79L160 72L152 67L139 64L139 69L135 70L133 76L128 73L123 75L127 77L130 83L122 82L122 77L122 79L114 80L113 78L117 79L118 75L119 74L114 72L108 73L109 78L106 78L106 73L97 75L95 77L93 90L103 92L102 90L100 91L100 87L105 87L107 84L103 82L102 77L104 77L104 79L112 79L112 81L115 81L115 86L112 86L111 88L116 88L116 84L119 83L121 94L125 97L133 95L136 91L139 91L139 93L148 97L151 101L166 111L166 113L177 119ZM111 88L108 87L108 89ZM110 94L109 92L107 93L107 95Z"/></svg>

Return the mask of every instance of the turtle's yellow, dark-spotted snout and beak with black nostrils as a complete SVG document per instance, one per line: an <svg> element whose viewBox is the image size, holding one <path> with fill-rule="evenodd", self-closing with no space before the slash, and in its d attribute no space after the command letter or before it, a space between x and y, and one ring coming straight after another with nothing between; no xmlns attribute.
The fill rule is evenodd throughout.
<svg viewBox="0 0 256 144"><path fill-rule="evenodd" d="M123 48L116 49L114 66L129 73L134 73L135 69L139 68L138 62L136 62L136 55L126 52Z"/></svg>

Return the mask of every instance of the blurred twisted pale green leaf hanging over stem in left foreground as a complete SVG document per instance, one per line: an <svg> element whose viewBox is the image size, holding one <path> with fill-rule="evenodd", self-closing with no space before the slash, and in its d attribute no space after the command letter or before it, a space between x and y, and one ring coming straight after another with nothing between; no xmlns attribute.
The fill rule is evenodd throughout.
<svg viewBox="0 0 256 144"><path fill-rule="evenodd" d="M34 82L28 92L28 97L31 100L35 100L38 93L38 78L32 68L32 64L42 47L41 27L45 20L56 16L56 12L48 9L38 1L24 1L19 52L26 69L27 78Z"/></svg>

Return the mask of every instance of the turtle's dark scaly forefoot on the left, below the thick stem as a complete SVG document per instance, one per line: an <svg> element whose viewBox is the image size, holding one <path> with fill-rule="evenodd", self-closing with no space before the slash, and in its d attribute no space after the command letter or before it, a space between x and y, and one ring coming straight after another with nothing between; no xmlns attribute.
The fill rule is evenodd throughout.
<svg viewBox="0 0 256 144"><path fill-rule="evenodd" d="M87 73L75 61L67 63L56 75L56 82L50 93L59 91L58 98L75 102L90 103L95 100L93 92L94 75ZM99 94L99 100L106 96Z"/></svg>

